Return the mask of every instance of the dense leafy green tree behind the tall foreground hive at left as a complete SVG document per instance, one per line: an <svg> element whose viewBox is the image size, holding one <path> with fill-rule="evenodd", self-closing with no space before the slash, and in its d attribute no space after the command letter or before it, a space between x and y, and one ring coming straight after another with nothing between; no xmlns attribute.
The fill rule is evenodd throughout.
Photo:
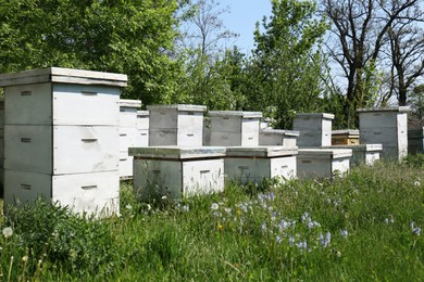
<svg viewBox="0 0 424 282"><path fill-rule="evenodd" d="M0 0L0 73L62 66L128 75L124 97L175 91L176 0Z"/></svg>

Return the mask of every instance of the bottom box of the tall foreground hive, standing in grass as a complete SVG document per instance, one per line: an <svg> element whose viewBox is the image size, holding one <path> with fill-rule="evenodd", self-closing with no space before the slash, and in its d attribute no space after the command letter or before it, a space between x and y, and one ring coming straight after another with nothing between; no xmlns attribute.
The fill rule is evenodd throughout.
<svg viewBox="0 0 424 282"><path fill-rule="evenodd" d="M119 181L117 172L51 176L5 169L4 203L34 203L43 196L75 213L107 216L119 211Z"/></svg>

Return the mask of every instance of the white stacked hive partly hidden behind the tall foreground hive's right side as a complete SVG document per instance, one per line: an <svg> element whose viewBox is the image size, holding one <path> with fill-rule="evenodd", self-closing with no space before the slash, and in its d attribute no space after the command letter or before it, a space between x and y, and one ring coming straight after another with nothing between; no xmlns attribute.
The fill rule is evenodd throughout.
<svg viewBox="0 0 424 282"><path fill-rule="evenodd" d="M139 100L120 100L120 177L133 177L133 157L128 156L128 148L141 146L142 137L137 129L137 108Z"/></svg>

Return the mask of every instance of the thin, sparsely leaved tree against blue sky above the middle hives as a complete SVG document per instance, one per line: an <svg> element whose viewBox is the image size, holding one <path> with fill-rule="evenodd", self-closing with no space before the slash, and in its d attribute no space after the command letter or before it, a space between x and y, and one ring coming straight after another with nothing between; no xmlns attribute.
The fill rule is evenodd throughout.
<svg viewBox="0 0 424 282"><path fill-rule="evenodd" d="M190 12L191 11L191 12ZM214 0L196 1L182 25L180 61L185 62L185 76L170 102L204 104L211 110L233 110L230 86L225 77L227 53L222 42L236 36L227 30L220 18L228 9Z"/></svg>

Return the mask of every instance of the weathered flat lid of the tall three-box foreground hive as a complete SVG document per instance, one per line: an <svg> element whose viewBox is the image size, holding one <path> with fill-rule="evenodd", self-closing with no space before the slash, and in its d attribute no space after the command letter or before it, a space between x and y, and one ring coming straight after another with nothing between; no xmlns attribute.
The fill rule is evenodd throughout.
<svg viewBox="0 0 424 282"><path fill-rule="evenodd" d="M0 87L42 82L125 87L127 86L127 76L63 67L47 67L0 75Z"/></svg>

